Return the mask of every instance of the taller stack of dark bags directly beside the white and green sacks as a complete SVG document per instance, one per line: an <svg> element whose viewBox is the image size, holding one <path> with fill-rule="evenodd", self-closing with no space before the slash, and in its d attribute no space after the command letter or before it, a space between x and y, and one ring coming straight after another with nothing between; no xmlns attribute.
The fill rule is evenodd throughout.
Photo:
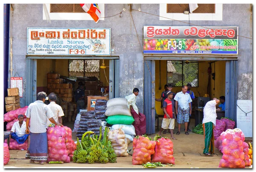
<svg viewBox="0 0 256 172"><path fill-rule="evenodd" d="M95 103L95 118L106 121L105 112L107 109L107 100L97 99Z"/></svg>

